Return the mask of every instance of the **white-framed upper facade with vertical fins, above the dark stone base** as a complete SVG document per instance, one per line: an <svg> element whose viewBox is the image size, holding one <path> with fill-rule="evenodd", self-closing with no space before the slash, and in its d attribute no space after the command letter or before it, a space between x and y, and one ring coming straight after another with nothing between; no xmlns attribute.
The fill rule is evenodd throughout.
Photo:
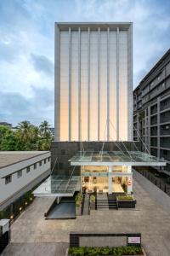
<svg viewBox="0 0 170 256"><path fill-rule="evenodd" d="M55 23L55 141L133 139L132 23Z"/></svg>

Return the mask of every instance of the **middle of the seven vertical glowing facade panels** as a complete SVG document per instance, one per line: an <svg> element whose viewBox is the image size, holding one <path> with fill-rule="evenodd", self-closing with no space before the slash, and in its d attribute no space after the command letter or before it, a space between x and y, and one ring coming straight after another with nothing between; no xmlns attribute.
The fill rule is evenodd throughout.
<svg viewBox="0 0 170 256"><path fill-rule="evenodd" d="M90 32L90 141L98 140L98 32Z"/></svg>

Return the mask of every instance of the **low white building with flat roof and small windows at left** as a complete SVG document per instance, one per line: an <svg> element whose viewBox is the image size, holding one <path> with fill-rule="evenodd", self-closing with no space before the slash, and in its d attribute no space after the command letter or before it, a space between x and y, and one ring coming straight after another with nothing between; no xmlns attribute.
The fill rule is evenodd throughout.
<svg viewBox="0 0 170 256"><path fill-rule="evenodd" d="M49 176L50 167L49 151L1 151L0 216L8 208L10 215L15 217L14 212L19 211L23 195Z"/></svg>

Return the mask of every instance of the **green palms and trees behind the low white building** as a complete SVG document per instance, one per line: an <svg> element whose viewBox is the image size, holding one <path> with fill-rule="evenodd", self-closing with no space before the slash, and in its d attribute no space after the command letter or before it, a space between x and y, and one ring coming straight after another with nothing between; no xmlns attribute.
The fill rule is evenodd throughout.
<svg viewBox="0 0 170 256"><path fill-rule="evenodd" d="M22 121L15 130L0 125L0 150L49 150L54 137L48 121L39 126Z"/></svg>

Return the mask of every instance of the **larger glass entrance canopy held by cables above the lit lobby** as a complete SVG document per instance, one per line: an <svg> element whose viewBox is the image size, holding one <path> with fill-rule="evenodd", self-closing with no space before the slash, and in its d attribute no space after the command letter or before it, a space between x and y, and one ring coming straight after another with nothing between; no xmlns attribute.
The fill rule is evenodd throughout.
<svg viewBox="0 0 170 256"><path fill-rule="evenodd" d="M166 166L165 160L141 151L81 151L71 166Z"/></svg>

